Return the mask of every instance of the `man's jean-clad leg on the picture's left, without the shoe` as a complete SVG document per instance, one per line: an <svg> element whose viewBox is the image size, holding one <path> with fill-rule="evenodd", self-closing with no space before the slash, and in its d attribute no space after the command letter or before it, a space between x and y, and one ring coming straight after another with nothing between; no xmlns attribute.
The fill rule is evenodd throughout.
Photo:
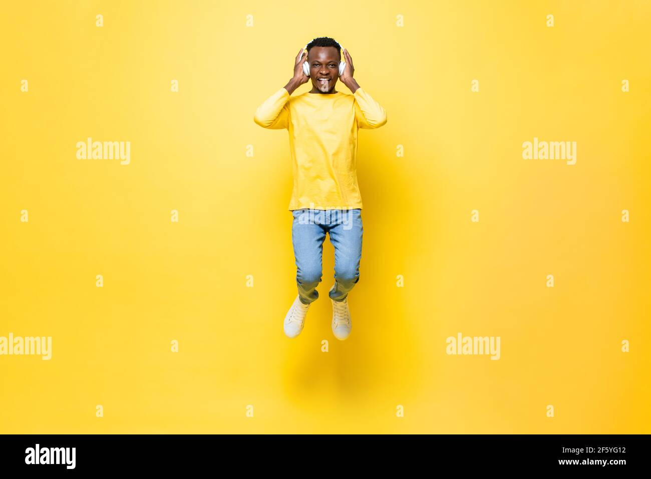
<svg viewBox="0 0 651 479"><path fill-rule="evenodd" d="M301 303L309 304L319 297L316 286L321 282L322 257L326 230L310 221L308 209L292 211L292 243L296 259L296 285Z"/></svg>

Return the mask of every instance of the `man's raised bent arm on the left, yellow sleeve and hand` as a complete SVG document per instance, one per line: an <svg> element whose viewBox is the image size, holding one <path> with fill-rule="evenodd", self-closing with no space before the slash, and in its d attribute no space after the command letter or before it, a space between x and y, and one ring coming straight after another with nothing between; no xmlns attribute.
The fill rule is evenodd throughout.
<svg viewBox="0 0 651 479"><path fill-rule="evenodd" d="M277 90L256 109L253 121L264 128L282 130L289 127L289 97L298 87L307 83L310 77L303 74L303 62L307 50L301 48L294 60L294 76L280 90Z"/></svg>

